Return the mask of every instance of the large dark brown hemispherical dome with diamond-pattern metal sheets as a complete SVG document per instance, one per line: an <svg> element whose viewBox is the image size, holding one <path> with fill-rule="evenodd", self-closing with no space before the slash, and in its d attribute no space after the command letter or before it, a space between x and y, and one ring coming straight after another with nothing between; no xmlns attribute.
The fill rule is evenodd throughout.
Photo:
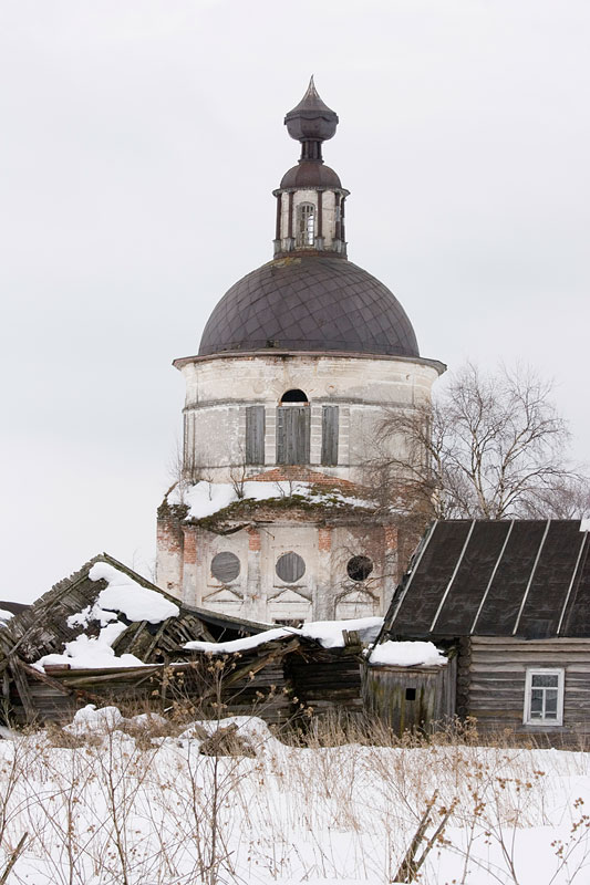
<svg viewBox="0 0 590 885"><path fill-rule="evenodd" d="M211 313L199 355L270 347L418 356L390 290L343 258L279 259L248 273Z"/></svg>

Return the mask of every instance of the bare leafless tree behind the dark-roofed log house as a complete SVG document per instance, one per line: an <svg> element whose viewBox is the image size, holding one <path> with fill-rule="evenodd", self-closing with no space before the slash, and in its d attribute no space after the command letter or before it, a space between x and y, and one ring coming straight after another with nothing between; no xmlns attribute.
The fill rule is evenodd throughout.
<svg viewBox="0 0 590 885"><path fill-rule="evenodd" d="M530 369L468 363L432 405L392 410L371 469L390 500L431 517L581 517L590 486L567 460L551 384Z"/></svg>

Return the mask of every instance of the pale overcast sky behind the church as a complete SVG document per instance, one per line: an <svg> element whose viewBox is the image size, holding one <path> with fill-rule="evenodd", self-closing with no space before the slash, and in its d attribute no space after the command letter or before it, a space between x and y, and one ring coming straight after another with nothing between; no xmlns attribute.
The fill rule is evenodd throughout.
<svg viewBox="0 0 590 885"><path fill-rule="evenodd" d="M311 73L349 257L449 367L555 378L586 458L588 0L0 0L2 583L149 574L182 376L271 258Z"/></svg>

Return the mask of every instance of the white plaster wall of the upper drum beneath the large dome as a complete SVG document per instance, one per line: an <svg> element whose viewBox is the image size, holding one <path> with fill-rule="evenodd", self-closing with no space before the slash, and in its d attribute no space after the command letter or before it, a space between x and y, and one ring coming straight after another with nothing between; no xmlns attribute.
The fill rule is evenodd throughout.
<svg viewBox="0 0 590 885"><path fill-rule="evenodd" d="M444 366L421 358L352 354L263 353L176 361L186 383L185 464L197 476L227 482L244 467L246 408L265 407L265 467L277 465L276 410L287 391L301 389L311 410L309 467L321 467L322 406L339 406L338 465L324 473L362 483L363 465L392 409L429 403ZM403 440L394 439L401 446Z"/></svg>

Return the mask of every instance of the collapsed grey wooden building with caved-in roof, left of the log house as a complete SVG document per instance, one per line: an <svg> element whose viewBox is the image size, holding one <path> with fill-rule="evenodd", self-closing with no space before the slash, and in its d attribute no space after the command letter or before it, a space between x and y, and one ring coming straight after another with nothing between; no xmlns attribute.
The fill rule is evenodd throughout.
<svg viewBox="0 0 590 885"><path fill-rule="evenodd" d="M177 606L178 614L157 624L126 621L120 614L126 626L112 643L116 655L112 666L33 666L46 655L61 655L64 645L80 635L81 627L69 622L91 610L106 585L90 577L96 563L106 563L158 593ZM63 721L85 704L116 702L158 711L185 706L204 718L255 712L280 725L307 717L310 709L361 708L361 645L355 635L333 649L294 632L234 654L211 656L185 648L188 642L228 642L266 629L266 624L179 604L123 563L101 554L0 627L4 719L21 725ZM100 624L91 620L85 634L92 638L99 631ZM118 666L121 656L130 654L142 666Z"/></svg>

